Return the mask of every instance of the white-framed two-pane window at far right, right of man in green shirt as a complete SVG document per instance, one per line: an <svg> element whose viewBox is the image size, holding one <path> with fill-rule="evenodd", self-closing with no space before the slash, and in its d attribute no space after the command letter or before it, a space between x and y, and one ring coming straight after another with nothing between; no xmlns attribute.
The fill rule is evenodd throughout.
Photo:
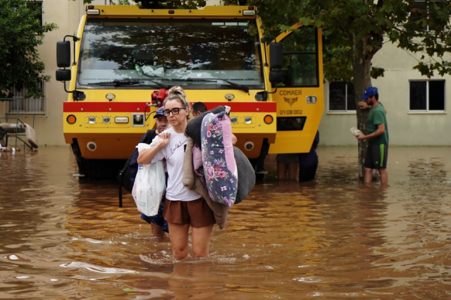
<svg viewBox="0 0 451 300"><path fill-rule="evenodd" d="M412 80L409 86L409 111L445 111L445 80Z"/></svg>

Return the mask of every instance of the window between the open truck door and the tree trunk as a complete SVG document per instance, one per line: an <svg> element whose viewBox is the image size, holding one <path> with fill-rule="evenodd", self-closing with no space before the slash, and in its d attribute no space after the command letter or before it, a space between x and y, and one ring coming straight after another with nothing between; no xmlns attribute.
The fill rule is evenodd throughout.
<svg viewBox="0 0 451 300"><path fill-rule="evenodd" d="M329 83L329 111L355 111L354 85L352 82Z"/></svg>

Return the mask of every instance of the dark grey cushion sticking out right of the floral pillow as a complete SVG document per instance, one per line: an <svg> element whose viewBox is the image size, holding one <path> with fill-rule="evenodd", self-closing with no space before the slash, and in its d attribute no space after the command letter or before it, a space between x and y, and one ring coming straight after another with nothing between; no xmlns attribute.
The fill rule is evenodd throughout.
<svg viewBox="0 0 451 300"><path fill-rule="evenodd" d="M239 204L254 189L255 171L249 159L239 148L233 146L233 154L235 155L238 169L238 189L235 204Z"/></svg>

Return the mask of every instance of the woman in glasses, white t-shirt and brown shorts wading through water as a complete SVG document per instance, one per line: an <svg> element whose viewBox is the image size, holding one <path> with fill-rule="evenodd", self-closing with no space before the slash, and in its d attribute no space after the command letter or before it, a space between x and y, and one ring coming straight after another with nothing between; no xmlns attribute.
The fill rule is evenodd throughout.
<svg viewBox="0 0 451 300"><path fill-rule="evenodd" d="M209 257L211 231L216 223L214 213L206 201L182 182L183 157L188 139L185 128L190 118L190 104L185 97L181 87L169 89L168 97L163 102L163 113L172 127L159 134L161 140L158 145L140 151L138 156L141 165L166 158L168 186L163 217L168 221L173 256L179 261L188 256L190 225L194 257Z"/></svg>

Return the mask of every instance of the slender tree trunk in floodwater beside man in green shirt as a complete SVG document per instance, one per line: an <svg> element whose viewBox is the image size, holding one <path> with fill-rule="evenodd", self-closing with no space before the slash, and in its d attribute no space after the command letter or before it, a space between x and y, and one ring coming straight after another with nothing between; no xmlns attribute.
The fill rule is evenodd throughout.
<svg viewBox="0 0 451 300"><path fill-rule="evenodd" d="M352 61L353 75L354 75L354 93L355 101L362 101L362 96L367 87L371 87L371 58L359 56L358 53L363 53L363 49L354 52ZM360 109L357 106L357 128L367 133L369 109ZM366 149L368 148L368 140L359 141L359 180L364 180L364 161Z"/></svg>

